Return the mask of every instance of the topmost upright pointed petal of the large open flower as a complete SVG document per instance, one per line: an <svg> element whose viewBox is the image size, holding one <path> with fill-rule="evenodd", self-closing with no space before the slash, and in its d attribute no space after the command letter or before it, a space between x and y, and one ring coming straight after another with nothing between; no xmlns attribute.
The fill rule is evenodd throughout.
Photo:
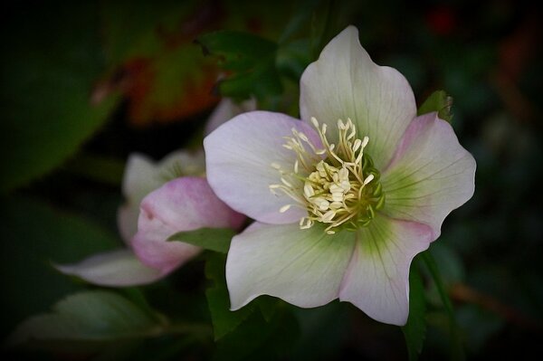
<svg viewBox="0 0 543 361"><path fill-rule="evenodd" d="M416 105L405 77L376 65L360 45L357 28L349 26L303 72L300 113L305 121L315 117L327 123L332 141L337 139L338 119L352 119L358 138L369 137L367 154L382 169L414 119Z"/></svg>

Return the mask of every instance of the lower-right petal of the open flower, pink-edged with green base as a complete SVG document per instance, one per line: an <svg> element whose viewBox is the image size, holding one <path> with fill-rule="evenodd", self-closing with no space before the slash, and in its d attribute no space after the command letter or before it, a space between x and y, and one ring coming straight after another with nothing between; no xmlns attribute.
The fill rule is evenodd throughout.
<svg viewBox="0 0 543 361"><path fill-rule="evenodd" d="M371 318L405 325L409 314L409 267L432 242L432 230L420 223L377 215L357 231L355 252L341 284L339 299Z"/></svg>

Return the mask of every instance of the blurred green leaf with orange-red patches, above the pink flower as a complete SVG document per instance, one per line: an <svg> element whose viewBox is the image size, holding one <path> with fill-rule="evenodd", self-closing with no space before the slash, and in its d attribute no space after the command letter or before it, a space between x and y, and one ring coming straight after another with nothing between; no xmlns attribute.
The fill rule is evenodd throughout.
<svg viewBox="0 0 543 361"><path fill-rule="evenodd" d="M224 14L213 2L105 2L101 7L110 71L104 92L121 90L136 126L193 116L217 101L218 72L193 43Z"/></svg>

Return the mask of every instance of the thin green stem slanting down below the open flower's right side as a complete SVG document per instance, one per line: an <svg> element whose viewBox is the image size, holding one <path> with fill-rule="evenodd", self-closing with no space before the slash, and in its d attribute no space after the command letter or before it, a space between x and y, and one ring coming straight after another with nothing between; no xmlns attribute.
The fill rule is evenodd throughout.
<svg viewBox="0 0 543 361"><path fill-rule="evenodd" d="M429 251L423 252L422 258L424 260L426 268L428 269L428 271L430 271L430 275L432 276L433 282L435 283L435 287L437 288L438 293L442 299L443 307L447 314L447 318L449 319L449 329L451 337L451 359L453 361L464 360L465 355L462 346L460 328L458 327L458 323L456 322L454 309L452 309L452 302L451 299L449 299L449 295L447 294L447 290L445 289L445 286L443 284L439 268L437 267L437 264L433 259L432 253L430 253Z"/></svg>

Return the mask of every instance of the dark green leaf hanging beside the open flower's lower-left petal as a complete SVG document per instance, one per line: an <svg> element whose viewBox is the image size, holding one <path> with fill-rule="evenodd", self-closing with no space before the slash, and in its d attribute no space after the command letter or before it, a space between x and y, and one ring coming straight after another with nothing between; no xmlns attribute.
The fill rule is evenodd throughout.
<svg viewBox="0 0 543 361"><path fill-rule="evenodd" d="M224 275L225 263L226 256L219 253L210 254L205 263L205 276L214 281L214 286L205 291L205 296L211 313L215 340L231 333L254 311L253 304L237 311L230 310L230 298Z"/></svg>

